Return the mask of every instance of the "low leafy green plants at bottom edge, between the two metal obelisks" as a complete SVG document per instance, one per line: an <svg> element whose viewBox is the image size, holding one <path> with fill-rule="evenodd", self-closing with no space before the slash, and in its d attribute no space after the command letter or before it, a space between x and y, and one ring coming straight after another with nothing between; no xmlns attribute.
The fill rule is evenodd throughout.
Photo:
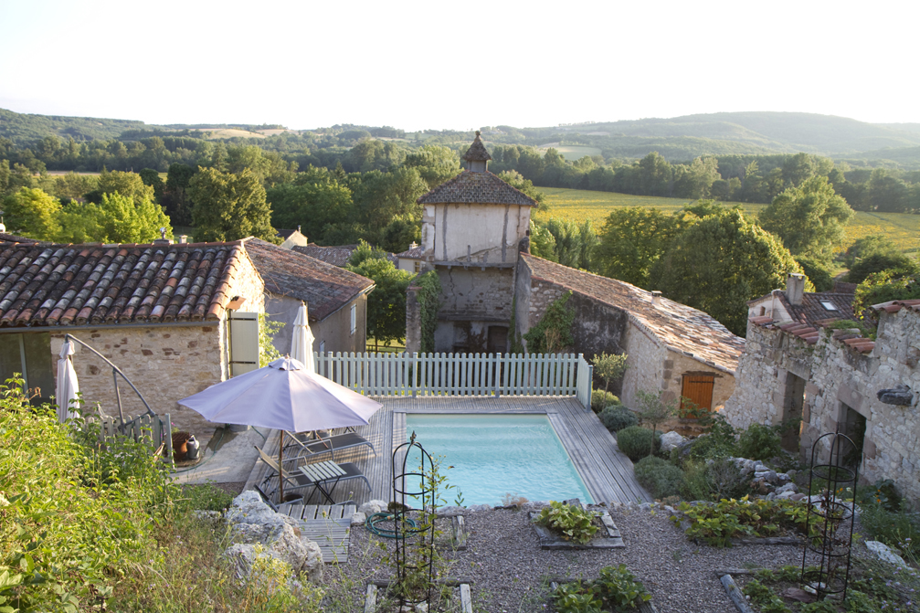
<svg viewBox="0 0 920 613"><path fill-rule="evenodd" d="M559 613L600 613L631 610L651 600L651 595L626 564L620 564L604 566L593 581L560 584L553 598Z"/></svg>

